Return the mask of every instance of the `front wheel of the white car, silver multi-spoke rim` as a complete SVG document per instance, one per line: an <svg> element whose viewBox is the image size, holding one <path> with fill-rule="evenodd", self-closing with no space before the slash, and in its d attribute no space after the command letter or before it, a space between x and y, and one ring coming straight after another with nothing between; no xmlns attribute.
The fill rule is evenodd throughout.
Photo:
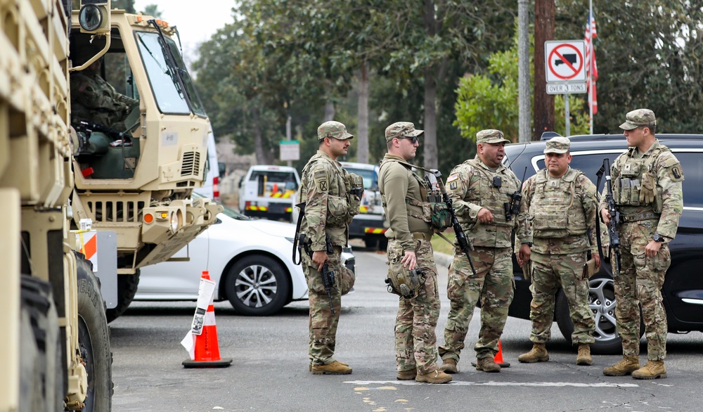
<svg viewBox="0 0 703 412"><path fill-rule="evenodd" d="M288 303L290 278L271 257L247 256L229 269L225 292L240 314L272 315Z"/></svg>

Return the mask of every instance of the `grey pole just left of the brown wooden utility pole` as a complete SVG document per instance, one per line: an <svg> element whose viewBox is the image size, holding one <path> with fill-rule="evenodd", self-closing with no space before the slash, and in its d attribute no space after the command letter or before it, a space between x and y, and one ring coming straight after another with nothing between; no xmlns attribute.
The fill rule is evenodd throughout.
<svg viewBox="0 0 703 412"><path fill-rule="evenodd" d="M520 143L530 141L529 95L529 0L517 0L517 96L519 102L518 136Z"/></svg>

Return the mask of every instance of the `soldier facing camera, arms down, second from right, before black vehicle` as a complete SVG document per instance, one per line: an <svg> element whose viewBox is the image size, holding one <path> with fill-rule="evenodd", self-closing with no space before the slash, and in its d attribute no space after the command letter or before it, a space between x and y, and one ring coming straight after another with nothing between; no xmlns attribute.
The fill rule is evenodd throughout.
<svg viewBox="0 0 703 412"><path fill-rule="evenodd" d="M518 218L529 228L517 261L521 266L529 260L532 264L529 338L534 345L517 360L549 360L545 343L551 338L555 295L561 288L574 323L572 344L579 346L576 365L591 365L595 320L588 307L588 274L584 275L583 264L591 251L595 266L600 266L595 238L598 189L583 172L569 167L569 139L550 139L544 153L545 169L524 183L524 212Z"/></svg>

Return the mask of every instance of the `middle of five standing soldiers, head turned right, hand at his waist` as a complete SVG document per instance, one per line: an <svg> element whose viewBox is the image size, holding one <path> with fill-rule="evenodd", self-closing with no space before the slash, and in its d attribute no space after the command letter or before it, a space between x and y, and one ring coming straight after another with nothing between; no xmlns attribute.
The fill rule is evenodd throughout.
<svg viewBox="0 0 703 412"><path fill-rule="evenodd" d="M444 328L444 346L439 347L444 361L441 368L447 373L457 372L459 354L479 300L481 330L474 347L476 368L501 371L494 356L513 295L511 235L517 220L506 216L505 204L510 204L512 193L519 193L520 179L503 166L505 143L510 141L502 131L479 131L476 143L476 157L454 167L446 179L456 217L467 238L472 239L474 250L469 253L476 269L474 274L467 256L455 244L446 288L451 309Z"/></svg>

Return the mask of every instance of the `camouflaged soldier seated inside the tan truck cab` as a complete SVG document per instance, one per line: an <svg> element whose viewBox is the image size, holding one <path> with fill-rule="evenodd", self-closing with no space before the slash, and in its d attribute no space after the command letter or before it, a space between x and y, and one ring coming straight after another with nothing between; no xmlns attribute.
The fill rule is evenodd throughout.
<svg viewBox="0 0 703 412"><path fill-rule="evenodd" d="M85 70L71 73L71 117L74 122L101 124L117 131L126 131L124 120L137 108L139 101L117 93L100 75L102 59Z"/></svg>

